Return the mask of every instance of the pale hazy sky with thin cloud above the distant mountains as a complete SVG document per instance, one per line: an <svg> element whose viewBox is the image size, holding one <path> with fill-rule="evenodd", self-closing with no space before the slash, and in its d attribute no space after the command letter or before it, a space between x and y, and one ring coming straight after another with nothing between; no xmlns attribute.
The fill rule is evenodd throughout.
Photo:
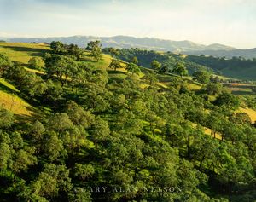
<svg viewBox="0 0 256 202"><path fill-rule="evenodd" d="M163 38L256 47L255 0L0 0L0 37Z"/></svg>

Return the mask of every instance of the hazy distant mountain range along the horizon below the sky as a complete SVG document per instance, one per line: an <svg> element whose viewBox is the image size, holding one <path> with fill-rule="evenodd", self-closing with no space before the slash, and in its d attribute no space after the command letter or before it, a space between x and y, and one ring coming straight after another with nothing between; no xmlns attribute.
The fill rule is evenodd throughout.
<svg viewBox="0 0 256 202"><path fill-rule="evenodd" d="M244 58L256 58L255 49L236 49L230 46L225 46L219 43L211 45L202 45L190 41L172 41L160 38L134 38L128 36L115 37L93 37L93 36L73 36L60 38L9 38L5 39L9 42L24 42L24 43L50 43L52 41L61 41L62 43L75 43L79 47L86 47L87 43L92 40L100 40L102 47L114 48L140 48L151 49L158 51L171 51L175 53L183 53L189 55L212 55L218 57L231 58L233 56L242 56Z"/></svg>

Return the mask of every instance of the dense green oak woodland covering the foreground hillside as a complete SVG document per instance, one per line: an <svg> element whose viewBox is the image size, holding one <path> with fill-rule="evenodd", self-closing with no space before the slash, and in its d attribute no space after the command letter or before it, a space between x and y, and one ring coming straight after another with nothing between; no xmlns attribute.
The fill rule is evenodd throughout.
<svg viewBox="0 0 256 202"><path fill-rule="evenodd" d="M0 109L1 201L256 200L255 124L235 113L241 98L206 66L108 49L108 71L84 59L87 51L95 64L102 60L98 41L87 50L50 47L44 66L29 61L43 74L0 55L0 77L40 111L26 119ZM111 74L120 59L129 61L126 78ZM185 85L188 65L198 91ZM158 75L168 72L172 82L164 88Z"/></svg>

